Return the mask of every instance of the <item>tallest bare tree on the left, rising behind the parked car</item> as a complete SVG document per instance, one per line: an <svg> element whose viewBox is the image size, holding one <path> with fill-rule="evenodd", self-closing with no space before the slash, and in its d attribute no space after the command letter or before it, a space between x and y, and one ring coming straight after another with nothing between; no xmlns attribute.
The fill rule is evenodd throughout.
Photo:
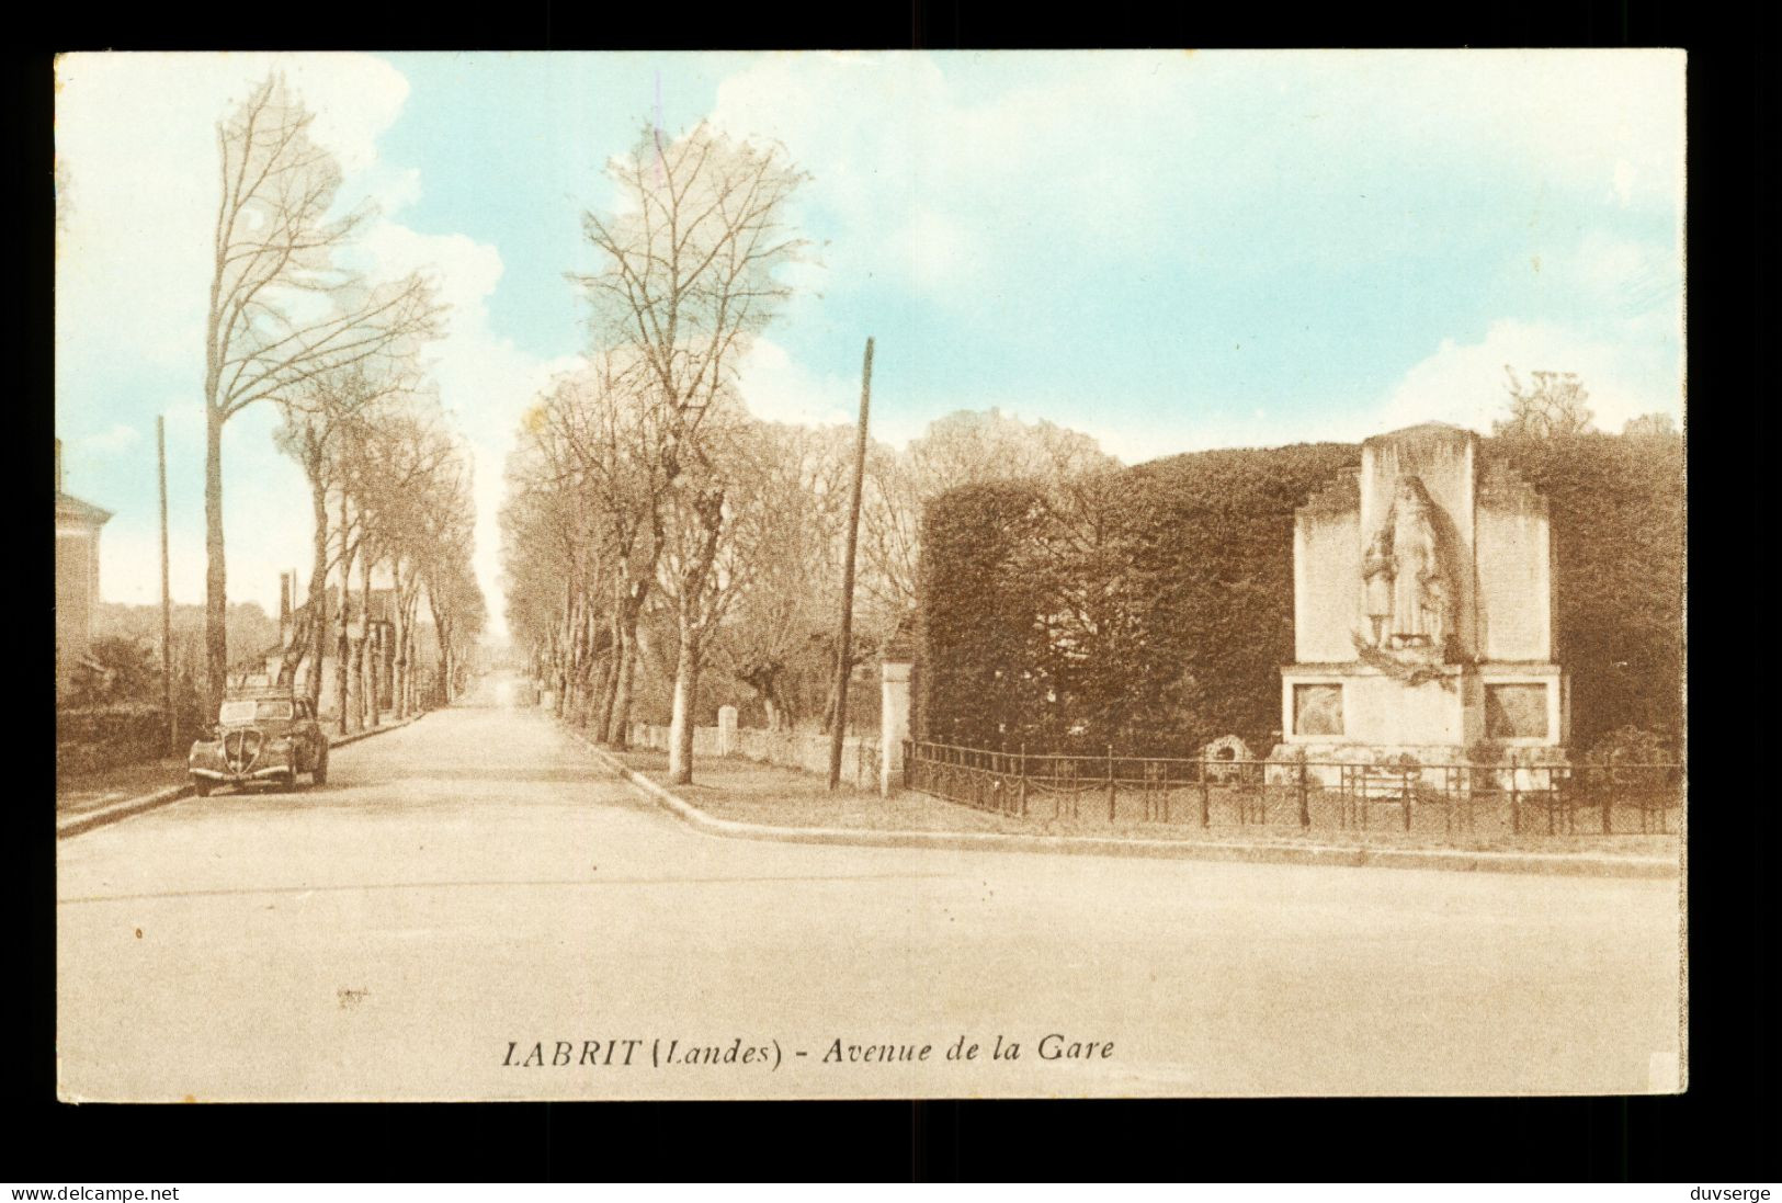
<svg viewBox="0 0 1782 1203"><path fill-rule="evenodd" d="M412 274L369 285L337 253L369 216L333 216L340 164L312 114L267 77L217 123L221 196L205 319L205 659L212 704L228 668L223 426L321 372L429 333L442 308Z"/></svg>

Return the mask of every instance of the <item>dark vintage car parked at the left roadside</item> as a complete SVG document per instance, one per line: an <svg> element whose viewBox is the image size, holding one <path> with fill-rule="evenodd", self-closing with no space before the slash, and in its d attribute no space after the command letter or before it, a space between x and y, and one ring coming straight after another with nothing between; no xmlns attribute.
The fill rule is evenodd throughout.
<svg viewBox="0 0 1782 1203"><path fill-rule="evenodd" d="M219 786L290 790L298 773L319 786L328 781L328 736L307 697L278 688L228 690L216 729L192 743L185 772L198 797Z"/></svg>

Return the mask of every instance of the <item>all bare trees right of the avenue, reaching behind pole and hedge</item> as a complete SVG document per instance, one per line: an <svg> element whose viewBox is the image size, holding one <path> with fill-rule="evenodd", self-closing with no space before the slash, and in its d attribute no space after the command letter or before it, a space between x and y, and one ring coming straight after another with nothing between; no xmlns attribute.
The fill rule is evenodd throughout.
<svg viewBox="0 0 1782 1203"><path fill-rule="evenodd" d="M834 722L852 431L756 421L738 390L805 250L789 226L804 175L784 151L645 128L609 175L613 212L583 221L599 267L574 278L588 362L538 399L508 463L508 624L604 743L624 747L642 686L666 686L670 775L688 781L715 665L770 727ZM1087 437L1000 413L873 447L850 661L914 608L928 497L1108 462Z"/></svg>

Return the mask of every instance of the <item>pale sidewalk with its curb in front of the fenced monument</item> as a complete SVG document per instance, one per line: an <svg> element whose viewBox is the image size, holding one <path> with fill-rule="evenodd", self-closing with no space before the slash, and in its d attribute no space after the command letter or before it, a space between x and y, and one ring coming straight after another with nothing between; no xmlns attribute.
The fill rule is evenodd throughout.
<svg viewBox="0 0 1782 1203"><path fill-rule="evenodd" d="M1089 818L1087 811L1075 820L1023 820L914 791L891 798L859 790L832 795L827 782L811 773L734 757L702 757L695 763L693 784L670 788L661 752L595 752L693 827L745 839L1595 877L1675 877L1680 859L1677 836L1522 836L1467 843L1394 831L1203 829L1190 814L1171 823L1108 823Z"/></svg>

